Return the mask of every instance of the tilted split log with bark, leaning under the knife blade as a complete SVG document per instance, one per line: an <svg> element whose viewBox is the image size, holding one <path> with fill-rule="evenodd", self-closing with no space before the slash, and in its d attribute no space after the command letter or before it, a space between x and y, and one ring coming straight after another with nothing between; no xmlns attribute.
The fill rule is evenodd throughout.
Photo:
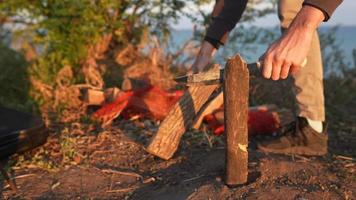
<svg viewBox="0 0 356 200"><path fill-rule="evenodd" d="M219 70L215 65L212 70ZM218 85L191 86L174 105L153 136L147 151L162 159L170 159L177 150L186 129L192 126L196 114Z"/></svg>

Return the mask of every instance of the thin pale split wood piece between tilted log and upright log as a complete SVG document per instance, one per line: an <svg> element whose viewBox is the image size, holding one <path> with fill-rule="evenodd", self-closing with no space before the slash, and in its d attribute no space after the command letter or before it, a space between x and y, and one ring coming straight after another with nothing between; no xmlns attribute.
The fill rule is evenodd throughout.
<svg viewBox="0 0 356 200"><path fill-rule="evenodd" d="M215 97L213 97L210 101L204 104L199 114L197 115L196 119L194 120L192 128L199 129L203 122L204 117L214 112L216 109L219 109L223 105L223 103L224 103L224 95L222 90L220 90Z"/></svg>

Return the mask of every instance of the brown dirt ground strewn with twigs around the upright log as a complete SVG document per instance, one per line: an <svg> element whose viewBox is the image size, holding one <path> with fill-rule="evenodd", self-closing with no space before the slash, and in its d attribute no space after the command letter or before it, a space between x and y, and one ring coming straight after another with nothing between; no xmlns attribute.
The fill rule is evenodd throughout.
<svg viewBox="0 0 356 200"><path fill-rule="evenodd" d="M263 154L256 142L264 138L250 138L249 182L228 188L223 137L188 132L174 158L163 161L144 150L157 126L118 120L95 136L75 135L80 159L57 170L14 167L18 192L1 182L2 198L356 199L354 129L331 132L324 157Z"/></svg>

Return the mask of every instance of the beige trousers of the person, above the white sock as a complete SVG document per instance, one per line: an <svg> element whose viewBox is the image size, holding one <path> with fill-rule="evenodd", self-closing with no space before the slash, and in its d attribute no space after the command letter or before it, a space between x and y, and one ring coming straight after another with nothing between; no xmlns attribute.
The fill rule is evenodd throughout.
<svg viewBox="0 0 356 200"><path fill-rule="evenodd" d="M303 0L279 0L278 16L282 32L288 28L302 8ZM315 32L307 55L307 64L293 76L297 115L312 120L325 121L323 66L318 33Z"/></svg>

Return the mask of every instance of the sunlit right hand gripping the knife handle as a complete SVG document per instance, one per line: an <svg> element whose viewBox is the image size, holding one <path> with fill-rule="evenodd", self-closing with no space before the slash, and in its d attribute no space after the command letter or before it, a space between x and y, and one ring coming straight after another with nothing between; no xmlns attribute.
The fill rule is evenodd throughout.
<svg viewBox="0 0 356 200"><path fill-rule="evenodd" d="M264 54L263 76L279 80L287 78L289 73L296 73L309 52L313 34L323 20L322 11L303 6L285 34Z"/></svg>

